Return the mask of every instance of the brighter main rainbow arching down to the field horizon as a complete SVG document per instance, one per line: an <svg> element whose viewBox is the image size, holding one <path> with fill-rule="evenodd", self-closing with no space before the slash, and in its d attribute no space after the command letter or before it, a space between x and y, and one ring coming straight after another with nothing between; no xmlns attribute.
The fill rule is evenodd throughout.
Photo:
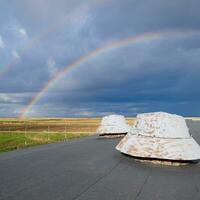
<svg viewBox="0 0 200 200"><path fill-rule="evenodd" d="M161 38L169 38L169 37L183 37L183 36L194 36L200 35L200 30L165 30L165 31L158 31L158 32L146 32L138 35L133 35L127 37L125 39L120 39L100 48L95 49L94 51L78 58L76 61L71 63L70 65L66 66L63 70L56 73L44 86L40 89L40 91L31 99L28 105L22 109L20 117L25 117L26 114L30 111L32 106L36 104L39 99L47 92L49 88L51 88L57 81L62 79L64 75L66 75L71 69L82 66L88 60L100 56L104 53L113 51L115 49L119 49L128 45L133 45L137 43L143 43L152 40L158 40Z"/></svg>

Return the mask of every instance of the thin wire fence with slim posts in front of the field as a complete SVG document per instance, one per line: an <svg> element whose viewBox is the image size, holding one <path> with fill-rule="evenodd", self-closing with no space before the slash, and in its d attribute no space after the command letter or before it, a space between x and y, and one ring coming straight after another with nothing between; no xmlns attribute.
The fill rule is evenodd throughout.
<svg viewBox="0 0 200 200"><path fill-rule="evenodd" d="M8 145L12 148L20 148L92 135L98 125L98 123L0 124L0 137L7 141L7 143L0 141L0 150L2 146Z"/></svg>

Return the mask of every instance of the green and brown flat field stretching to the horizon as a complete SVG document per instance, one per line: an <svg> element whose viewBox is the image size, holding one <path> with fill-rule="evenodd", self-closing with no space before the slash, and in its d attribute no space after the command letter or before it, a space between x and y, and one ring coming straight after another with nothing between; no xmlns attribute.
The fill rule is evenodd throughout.
<svg viewBox="0 0 200 200"><path fill-rule="evenodd" d="M133 118L127 120L133 124ZM0 152L93 135L100 121L100 118L1 118Z"/></svg>

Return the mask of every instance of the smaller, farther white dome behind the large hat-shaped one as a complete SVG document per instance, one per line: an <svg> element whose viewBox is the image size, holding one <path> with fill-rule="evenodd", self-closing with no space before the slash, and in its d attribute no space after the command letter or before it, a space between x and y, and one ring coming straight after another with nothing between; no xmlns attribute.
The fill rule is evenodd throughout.
<svg viewBox="0 0 200 200"><path fill-rule="evenodd" d="M109 115L103 117L101 125L97 128L100 136L122 136L130 131L130 126L122 115Z"/></svg>

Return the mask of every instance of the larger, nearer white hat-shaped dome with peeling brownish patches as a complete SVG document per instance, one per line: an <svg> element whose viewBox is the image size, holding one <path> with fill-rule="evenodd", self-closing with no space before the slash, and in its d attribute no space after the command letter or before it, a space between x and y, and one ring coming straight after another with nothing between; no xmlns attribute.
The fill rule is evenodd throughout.
<svg viewBox="0 0 200 200"><path fill-rule="evenodd" d="M137 115L132 130L116 149L140 158L173 161L200 159L200 147L189 134L184 118L164 112Z"/></svg>

